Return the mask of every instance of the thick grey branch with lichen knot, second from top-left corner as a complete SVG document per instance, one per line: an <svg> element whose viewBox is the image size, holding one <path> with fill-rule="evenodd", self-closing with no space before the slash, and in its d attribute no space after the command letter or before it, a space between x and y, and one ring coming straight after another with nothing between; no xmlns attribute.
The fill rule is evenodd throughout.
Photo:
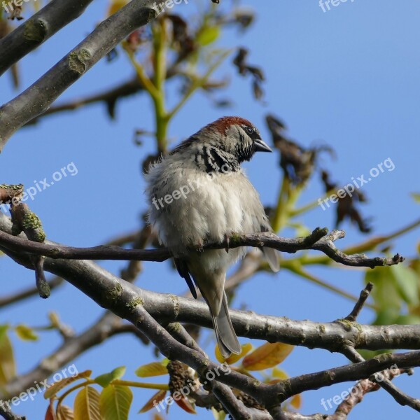
<svg viewBox="0 0 420 420"><path fill-rule="evenodd" d="M43 113L64 90L120 41L156 15L152 0L132 0L63 57L25 92L0 108L0 151L12 134Z"/></svg>

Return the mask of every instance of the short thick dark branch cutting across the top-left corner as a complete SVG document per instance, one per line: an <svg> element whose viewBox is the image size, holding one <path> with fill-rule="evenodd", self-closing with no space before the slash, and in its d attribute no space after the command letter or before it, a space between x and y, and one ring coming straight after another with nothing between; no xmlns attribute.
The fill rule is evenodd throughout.
<svg viewBox="0 0 420 420"><path fill-rule="evenodd" d="M0 39L0 76L57 31L78 18L92 0L52 0Z"/></svg>

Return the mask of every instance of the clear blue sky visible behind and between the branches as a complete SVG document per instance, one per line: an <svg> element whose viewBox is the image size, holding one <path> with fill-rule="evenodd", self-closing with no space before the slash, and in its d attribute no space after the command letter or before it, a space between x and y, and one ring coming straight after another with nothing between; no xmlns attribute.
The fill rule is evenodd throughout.
<svg viewBox="0 0 420 420"><path fill-rule="evenodd" d="M178 6L179 11L193 8L194 1ZM386 234L419 216L419 205L409 193L419 192L420 134L420 3L370 0L339 3L323 13L317 0L288 2L251 2L258 19L245 36L229 31L221 45L245 45L251 50L249 62L263 67L266 106L251 96L249 80L232 78L226 94L235 102L229 111L212 109L202 94L197 94L179 113L170 127L174 144L197 131L202 125L226 113L244 116L260 127L269 139L264 116L274 113L288 125L291 137L309 146L325 141L337 153L327 155L334 181L351 181L367 174L372 167L390 158L392 172L380 174L363 186L369 202L360 207L373 216L374 233ZM20 64L22 88L27 87L81 41L105 15L106 3L97 1L85 15L66 27L43 47L25 57ZM191 10L191 9L190 9ZM241 38L239 38L241 37ZM102 60L67 90L59 101L84 97L103 87L118 84L132 71L124 57L111 64ZM226 65L219 76L232 74ZM11 99L10 75L0 79L0 102ZM225 94L223 94L225 96ZM29 201L43 221L48 237L73 246L93 246L121 232L139 226L139 215L146 209L144 180L139 162L153 150L151 144L134 146L136 129L150 130L153 125L151 103L141 95L130 97L117 106L117 118L110 121L104 105L84 111L46 118L30 129L21 130L0 155L0 182L24 183L51 179L52 174L73 162L76 176L67 176ZM247 172L265 204L274 204L279 186L276 169L279 156L257 155L246 165ZM124 197L121 205L117 199ZM322 195L318 179L309 183L301 204ZM302 218L309 228L333 227L333 211L314 209ZM364 238L348 224L347 237L338 243L343 248ZM419 230L393 242L395 252L414 255ZM104 262L118 274L122 262ZM2 293L32 286L33 272L1 258ZM363 287L363 272L349 269L313 269L325 281L358 294ZM186 286L169 263L147 262L138 285L160 292L184 293ZM332 293L303 281L288 272L276 276L259 274L239 288L232 307L246 305L258 313L314 321L333 321L346 315L352 304ZM46 313L58 311L65 323L77 331L91 325L102 309L72 286L52 292L50 299L32 299L8 307L1 323L47 323ZM365 309L360 321L369 323L374 314ZM13 339L19 372L27 372L41 355L59 345L54 333L43 333L40 342L22 344ZM245 340L244 340L245 342ZM255 342L255 344L262 344ZM213 346L213 344L211 344ZM207 349L210 351L211 346ZM124 349L124 351L121 351ZM153 359L152 349L144 348L132 337L116 337L98 349L75 360L79 371L92 369L94 375L127 365L127 378L142 363ZM283 363L290 375L342 365L346 360L325 351L295 349ZM419 397L419 374L395 381L403 390ZM341 384L305 393L302 412L325 412L321 398L332 398L351 386ZM132 418L151 391L135 391ZM16 411L41 418L46 402L38 395L35 402L22 402ZM178 408L172 407L173 413ZM177 412L180 415L180 412ZM200 412L200 418L211 418ZM400 407L384 391L371 393L353 410L350 418L414 419L412 409ZM147 415L149 417L149 415ZM185 416L184 416L185 417ZM183 417L183 418L184 418Z"/></svg>

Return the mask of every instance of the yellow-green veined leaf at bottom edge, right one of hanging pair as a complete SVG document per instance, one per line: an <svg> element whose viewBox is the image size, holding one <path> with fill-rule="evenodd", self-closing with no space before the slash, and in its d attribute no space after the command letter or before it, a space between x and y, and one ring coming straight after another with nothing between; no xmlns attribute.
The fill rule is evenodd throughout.
<svg viewBox="0 0 420 420"><path fill-rule="evenodd" d="M133 393L129 386L106 386L99 399L102 420L128 420L132 400Z"/></svg>

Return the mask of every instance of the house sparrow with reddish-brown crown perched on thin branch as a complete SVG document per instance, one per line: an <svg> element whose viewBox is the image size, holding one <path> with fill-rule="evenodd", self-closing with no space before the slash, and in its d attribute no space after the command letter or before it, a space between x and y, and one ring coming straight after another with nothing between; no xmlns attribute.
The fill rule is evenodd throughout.
<svg viewBox="0 0 420 420"><path fill-rule="evenodd" d="M146 174L148 221L160 243L172 252L193 296L197 298L197 286L209 305L224 358L241 352L230 321L225 276L228 267L245 255L246 247L203 251L202 246L206 241L221 242L232 233L272 231L258 193L240 166L258 151L271 149L248 120L223 117L183 141ZM262 251L277 271L276 251Z"/></svg>

